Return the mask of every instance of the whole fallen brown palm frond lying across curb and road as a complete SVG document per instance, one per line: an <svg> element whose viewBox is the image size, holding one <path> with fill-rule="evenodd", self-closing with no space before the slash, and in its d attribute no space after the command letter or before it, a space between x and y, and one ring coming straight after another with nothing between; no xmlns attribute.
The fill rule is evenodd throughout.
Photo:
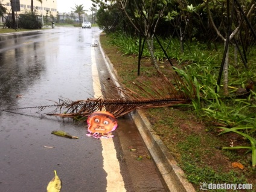
<svg viewBox="0 0 256 192"><path fill-rule="evenodd" d="M196 95L196 90L194 88L188 89L187 84L178 75L174 75L173 83L171 83L164 74L159 72L158 78L147 79L146 82L152 82L152 84L132 82L136 87L133 90L124 86L115 87L117 94L113 94L111 91L111 94L104 95L105 98L88 98L78 101L60 100L57 102L56 110L48 115L70 118L88 117L92 112L107 110L118 118L135 109L190 103Z"/></svg>

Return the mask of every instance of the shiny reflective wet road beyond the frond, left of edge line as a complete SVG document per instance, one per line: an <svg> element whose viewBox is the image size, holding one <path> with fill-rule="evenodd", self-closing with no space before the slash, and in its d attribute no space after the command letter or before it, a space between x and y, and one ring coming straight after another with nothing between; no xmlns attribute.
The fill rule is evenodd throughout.
<svg viewBox="0 0 256 192"><path fill-rule="evenodd" d="M0 82L5 82L0 89L1 98L8 98L8 105L13 106L18 104L16 94L24 95L24 104L30 104L34 98L39 99L33 104L47 104L47 99L62 96L71 100L89 97L91 81L86 77L91 76L92 33L75 32L67 28L18 40L0 37L0 44L11 44L0 49Z"/></svg>

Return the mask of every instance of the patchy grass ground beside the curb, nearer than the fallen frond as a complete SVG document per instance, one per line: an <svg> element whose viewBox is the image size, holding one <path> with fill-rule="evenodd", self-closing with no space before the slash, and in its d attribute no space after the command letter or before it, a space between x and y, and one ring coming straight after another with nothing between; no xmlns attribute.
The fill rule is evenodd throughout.
<svg viewBox="0 0 256 192"><path fill-rule="evenodd" d="M146 114L149 119L155 118L155 120L151 119L153 129L185 171L188 181L196 188L199 188L200 182L246 184L248 183L246 174L255 174L253 169L242 172L226 168L229 164L228 161L220 160L222 155L232 162L240 161L244 165L248 164L248 161L242 160L243 156L238 156L234 151L216 149L217 146L228 144L223 141L223 137L216 137L214 132L208 132L208 130L186 132L179 127L176 121L184 121L187 129L196 128L190 123L191 117L184 110L176 109L173 112L173 109L165 107L149 109Z"/></svg>

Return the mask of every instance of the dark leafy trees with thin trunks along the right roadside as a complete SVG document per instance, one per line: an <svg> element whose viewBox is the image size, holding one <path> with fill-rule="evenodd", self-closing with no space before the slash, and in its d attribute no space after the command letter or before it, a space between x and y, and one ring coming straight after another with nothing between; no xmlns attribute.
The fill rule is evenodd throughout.
<svg viewBox="0 0 256 192"><path fill-rule="evenodd" d="M152 64L158 65L153 53L153 39L178 38L181 52L191 40L205 43L208 48L223 42L225 51L220 66L218 84L223 72L224 92L228 94L229 46L235 46L246 66L246 57L255 45L255 1L243 0L92 0L98 25L106 33L123 31L139 37L139 59L144 43L150 51ZM162 48L162 46L161 46ZM162 51L165 50L162 48ZM165 56L168 59L167 54ZM170 64L171 61L169 60ZM139 63L138 63L139 65Z"/></svg>

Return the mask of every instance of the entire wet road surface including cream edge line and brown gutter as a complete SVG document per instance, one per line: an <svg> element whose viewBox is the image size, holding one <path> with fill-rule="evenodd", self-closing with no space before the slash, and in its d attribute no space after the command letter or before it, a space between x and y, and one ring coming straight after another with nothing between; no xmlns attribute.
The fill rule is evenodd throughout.
<svg viewBox="0 0 256 192"><path fill-rule="evenodd" d="M101 95L110 75L97 46L99 34L97 27L56 27L0 36L0 109ZM54 170L61 191L166 191L128 116L118 119L113 139L94 139L86 136L85 122L46 116L51 110L0 110L1 191L46 191ZM52 135L53 130L78 139Z"/></svg>

